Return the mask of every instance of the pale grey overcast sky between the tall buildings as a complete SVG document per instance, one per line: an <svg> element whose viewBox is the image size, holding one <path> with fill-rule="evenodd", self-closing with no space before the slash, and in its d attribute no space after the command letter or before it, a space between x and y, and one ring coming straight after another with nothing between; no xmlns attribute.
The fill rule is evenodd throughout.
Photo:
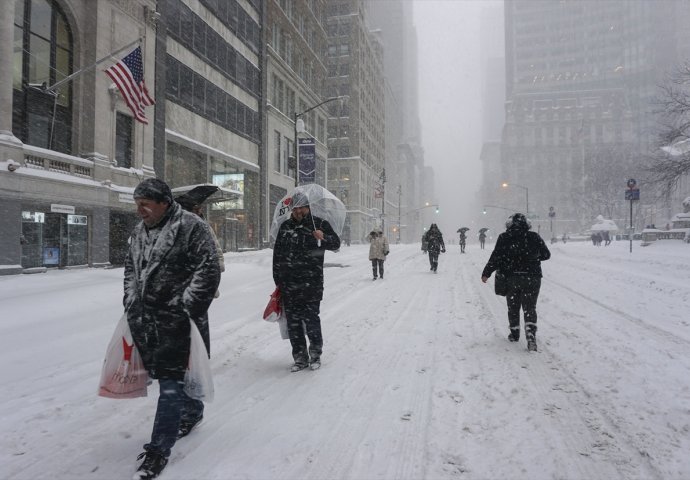
<svg viewBox="0 0 690 480"><path fill-rule="evenodd" d="M496 0L415 0L419 107L425 163L434 168L439 227L446 238L472 226L482 204L482 11ZM501 14L502 10L498 10Z"/></svg>

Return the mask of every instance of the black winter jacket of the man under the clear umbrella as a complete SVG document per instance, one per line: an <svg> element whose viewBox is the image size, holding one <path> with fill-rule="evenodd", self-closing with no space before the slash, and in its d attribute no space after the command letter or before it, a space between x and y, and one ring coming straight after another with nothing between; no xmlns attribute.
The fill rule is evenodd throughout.
<svg viewBox="0 0 690 480"><path fill-rule="evenodd" d="M312 235L321 230L321 246ZM326 220L306 215L301 222L293 217L278 229L273 247L273 281L285 302L320 302L323 298L323 259L326 250L338 250L340 238Z"/></svg>

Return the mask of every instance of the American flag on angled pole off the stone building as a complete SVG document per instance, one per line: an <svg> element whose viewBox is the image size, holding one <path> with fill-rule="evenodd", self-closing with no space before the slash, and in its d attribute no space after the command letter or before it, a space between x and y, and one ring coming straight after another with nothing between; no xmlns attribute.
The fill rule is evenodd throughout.
<svg viewBox="0 0 690 480"><path fill-rule="evenodd" d="M144 114L144 107L155 102L149 96L149 91L144 84L144 66L141 63L141 47L137 47L125 58L117 62L105 71L106 75L115 82L120 89L122 98L132 111L134 118L141 123L148 124Z"/></svg>

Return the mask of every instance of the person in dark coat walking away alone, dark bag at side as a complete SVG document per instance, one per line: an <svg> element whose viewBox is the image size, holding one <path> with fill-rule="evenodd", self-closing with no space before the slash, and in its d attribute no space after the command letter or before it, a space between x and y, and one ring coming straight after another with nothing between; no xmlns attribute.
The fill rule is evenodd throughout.
<svg viewBox="0 0 690 480"><path fill-rule="evenodd" d="M521 213L511 216L506 231L496 240L494 251L482 271L482 282L500 270L506 276L508 294L508 340L520 340L520 308L525 317L527 349L537 350L537 298L541 287L541 262L551 258L544 240L530 231L530 224Z"/></svg>

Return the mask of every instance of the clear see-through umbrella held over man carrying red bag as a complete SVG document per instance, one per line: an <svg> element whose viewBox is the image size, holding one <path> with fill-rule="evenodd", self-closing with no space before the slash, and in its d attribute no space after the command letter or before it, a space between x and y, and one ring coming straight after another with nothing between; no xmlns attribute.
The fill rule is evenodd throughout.
<svg viewBox="0 0 690 480"><path fill-rule="evenodd" d="M306 197L309 202L309 210L312 216L326 220L331 224L331 227L333 227L333 230L338 236L342 235L343 227L345 226L345 217L347 215L345 205L343 205L343 202L341 202L338 197L321 185L310 183L308 185L295 187L292 192L283 197L283 199L278 202L278 205L276 205L276 209L273 212L271 228L269 229L271 246L276 243L280 226L285 220L290 218L290 213L294 206L293 197L299 196ZM297 206L299 207L301 205Z"/></svg>

